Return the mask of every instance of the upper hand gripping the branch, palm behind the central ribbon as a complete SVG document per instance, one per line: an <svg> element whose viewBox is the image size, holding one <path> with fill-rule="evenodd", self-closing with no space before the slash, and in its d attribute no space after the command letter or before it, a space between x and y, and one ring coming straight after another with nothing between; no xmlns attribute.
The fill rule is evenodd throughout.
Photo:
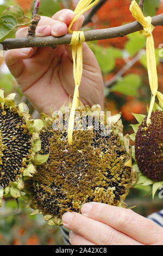
<svg viewBox="0 0 163 256"><path fill-rule="evenodd" d="M36 28L36 36L62 36L67 33L74 13L64 9L51 18L42 16ZM82 15L74 22L72 29L79 30L84 21ZM28 28L17 31L16 37L28 34ZM9 50L4 56L11 74L32 105L40 112L58 110L69 95L73 96L74 78L71 46L57 48L35 47ZM83 44L83 77L80 84L80 100L84 105L103 106L104 88L102 74L90 48Z"/></svg>

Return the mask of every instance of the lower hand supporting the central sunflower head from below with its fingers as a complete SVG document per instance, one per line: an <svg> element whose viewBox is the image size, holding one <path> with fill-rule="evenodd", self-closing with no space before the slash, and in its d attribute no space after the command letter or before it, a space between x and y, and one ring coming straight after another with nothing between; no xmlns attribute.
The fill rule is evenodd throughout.
<svg viewBox="0 0 163 256"><path fill-rule="evenodd" d="M163 245L163 229L129 209L87 203L82 214L66 212L71 245Z"/></svg>

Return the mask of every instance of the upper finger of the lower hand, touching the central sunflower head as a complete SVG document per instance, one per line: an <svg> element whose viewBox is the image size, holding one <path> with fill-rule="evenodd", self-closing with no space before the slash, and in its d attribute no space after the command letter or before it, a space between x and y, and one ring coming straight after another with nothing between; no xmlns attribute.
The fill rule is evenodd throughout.
<svg viewBox="0 0 163 256"><path fill-rule="evenodd" d="M82 214L146 245L158 242L160 235L163 236L161 227L129 209L92 202L82 206Z"/></svg>

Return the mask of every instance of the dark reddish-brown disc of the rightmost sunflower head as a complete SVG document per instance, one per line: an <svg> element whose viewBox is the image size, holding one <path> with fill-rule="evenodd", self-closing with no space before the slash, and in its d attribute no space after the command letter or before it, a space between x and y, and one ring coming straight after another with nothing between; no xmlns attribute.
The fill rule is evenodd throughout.
<svg viewBox="0 0 163 256"><path fill-rule="evenodd" d="M135 157L142 174L163 181L163 111L154 111L151 123L145 118L136 133Z"/></svg>

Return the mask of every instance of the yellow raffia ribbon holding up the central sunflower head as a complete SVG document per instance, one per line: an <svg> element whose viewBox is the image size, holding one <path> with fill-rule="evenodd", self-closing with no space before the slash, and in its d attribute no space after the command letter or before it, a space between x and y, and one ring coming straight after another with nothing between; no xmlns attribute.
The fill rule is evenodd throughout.
<svg viewBox="0 0 163 256"><path fill-rule="evenodd" d="M72 107L70 112L70 118L68 121L68 144L72 144L72 134L74 127L74 115L76 108L79 105L79 86L82 80L83 73L83 48L82 44L85 41L85 36L83 31L72 31L73 23L83 14L85 11L89 10L93 5L95 5L99 0L80 0L76 9L74 10L74 19L72 20L70 26L68 27L68 33L72 34L72 39L70 45L72 45L72 58L73 58L73 76L75 82L75 89L72 101Z"/></svg>

